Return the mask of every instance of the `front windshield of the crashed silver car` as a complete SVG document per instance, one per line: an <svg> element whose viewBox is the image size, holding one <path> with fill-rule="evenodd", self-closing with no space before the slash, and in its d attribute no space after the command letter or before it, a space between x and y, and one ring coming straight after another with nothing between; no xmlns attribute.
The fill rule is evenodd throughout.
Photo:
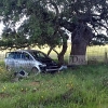
<svg viewBox="0 0 108 108"><path fill-rule="evenodd" d="M42 52L30 52L30 54L36 58L36 59L50 59L44 53Z"/></svg>

